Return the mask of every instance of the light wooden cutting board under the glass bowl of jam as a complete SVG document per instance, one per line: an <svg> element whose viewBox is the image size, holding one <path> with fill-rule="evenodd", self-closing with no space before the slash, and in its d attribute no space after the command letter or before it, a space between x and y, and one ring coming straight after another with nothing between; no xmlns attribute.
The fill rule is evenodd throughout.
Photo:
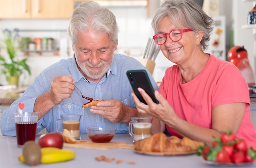
<svg viewBox="0 0 256 168"><path fill-rule="evenodd" d="M87 140L76 140L76 143L74 144L65 142L63 146L74 147L74 148L102 149L102 150L117 149L117 148L134 149L133 144L126 144L124 142L95 143Z"/></svg>

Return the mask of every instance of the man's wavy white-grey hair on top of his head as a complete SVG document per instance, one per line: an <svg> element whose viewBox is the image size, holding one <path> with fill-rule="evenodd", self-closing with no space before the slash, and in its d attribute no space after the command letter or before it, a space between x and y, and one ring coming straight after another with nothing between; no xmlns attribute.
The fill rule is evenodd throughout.
<svg viewBox="0 0 256 168"><path fill-rule="evenodd" d="M93 1L85 1L74 9L67 32L72 45L77 42L77 31L86 32L92 28L97 32L107 33L116 45L119 28L115 15L105 7Z"/></svg>

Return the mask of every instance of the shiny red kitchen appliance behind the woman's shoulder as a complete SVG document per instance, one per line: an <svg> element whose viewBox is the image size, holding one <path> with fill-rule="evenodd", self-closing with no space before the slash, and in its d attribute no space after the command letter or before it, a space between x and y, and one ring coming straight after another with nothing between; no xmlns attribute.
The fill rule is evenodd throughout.
<svg viewBox="0 0 256 168"><path fill-rule="evenodd" d="M248 86L255 85L255 76L249 63L248 54L244 46L232 47L229 50L227 57L229 61L234 63L234 65L236 65L236 67L240 70Z"/></svg>

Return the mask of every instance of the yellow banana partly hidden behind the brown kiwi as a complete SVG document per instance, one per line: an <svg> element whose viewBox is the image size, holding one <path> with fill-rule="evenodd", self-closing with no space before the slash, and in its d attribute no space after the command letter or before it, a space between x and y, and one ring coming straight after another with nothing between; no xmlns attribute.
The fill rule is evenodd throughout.
<svg viewBox="0 0 256 168"><path fill-rule="evenodd" d="M41 152L42 152L42 158L40 162L42 164L68 161L68 160L74 159L74 157L76 156L76 153L70 149L60 149L60 148L54 148L54 147L41 148ZM19 160L22 163L25 163L25 160L22 154L19 156Z"/></svg>

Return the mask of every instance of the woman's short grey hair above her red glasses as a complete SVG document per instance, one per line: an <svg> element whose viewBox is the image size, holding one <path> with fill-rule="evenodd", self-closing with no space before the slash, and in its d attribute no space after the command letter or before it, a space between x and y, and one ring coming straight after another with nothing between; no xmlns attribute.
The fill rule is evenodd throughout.
<svg viewBox="0 0 256 168"><path fill-rule="evenodd" d="M158 24L164 18L168 16L175 24L175 26L186 26L191 28L194 32L204 32L204 36L201 41L201 48L205 50L208 46L211 33L213 31L214 21L209 17L198 4L193 0L166 0L155 11L152 27L155 34L158 33ZM182 23L179 24L179 23Z"/></svg>

